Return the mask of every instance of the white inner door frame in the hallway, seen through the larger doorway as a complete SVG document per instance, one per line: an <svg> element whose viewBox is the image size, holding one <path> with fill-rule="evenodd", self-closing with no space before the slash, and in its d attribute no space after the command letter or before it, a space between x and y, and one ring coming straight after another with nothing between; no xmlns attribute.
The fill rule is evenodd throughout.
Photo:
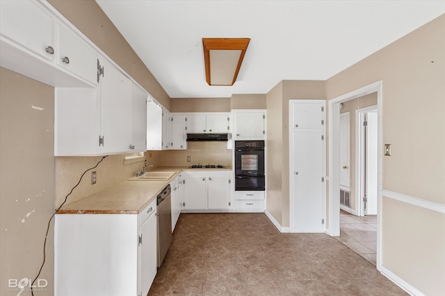
<svg viewBox="0 0 445 296"><path fill-rule="evenodd" d="M357 216L364 216L364 132L362 123L364 116L370 111L378 110L378 105L372 105L355 110L355 204ZM380 147L380 146L379 146Z"/></svg>

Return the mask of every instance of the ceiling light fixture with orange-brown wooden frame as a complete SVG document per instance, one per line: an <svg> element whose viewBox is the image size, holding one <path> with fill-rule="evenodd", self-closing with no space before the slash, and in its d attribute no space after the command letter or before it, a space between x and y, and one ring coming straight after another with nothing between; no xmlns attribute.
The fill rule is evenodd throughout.
<svg viewBox="0 0 445 296"><path fill-rule="evenodd" d="M234 85L250 38L202 38L206 81Z"/></svg>

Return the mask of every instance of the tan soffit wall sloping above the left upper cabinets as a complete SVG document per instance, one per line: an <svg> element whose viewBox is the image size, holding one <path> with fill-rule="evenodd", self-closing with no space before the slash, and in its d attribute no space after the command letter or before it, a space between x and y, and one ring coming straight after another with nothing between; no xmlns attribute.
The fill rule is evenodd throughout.
<svg viewBox="0 0 445 296"><path fill-rule="evenodd" d="M168 94L94 0L48 2L170 110Z"/></svg>

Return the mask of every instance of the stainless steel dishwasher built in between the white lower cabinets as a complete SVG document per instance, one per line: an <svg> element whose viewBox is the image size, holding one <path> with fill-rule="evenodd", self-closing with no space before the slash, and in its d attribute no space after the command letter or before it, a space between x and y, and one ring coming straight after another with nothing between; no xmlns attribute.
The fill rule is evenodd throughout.
<svg viewBox="0 0 445 296"><path fill-rule="evenodd" d="M157 196L157 220L158 220L158 267L161 266L162 261L167 254L168 247L172 243L172 200L170 192L172 191L170 184Z"/></svg>

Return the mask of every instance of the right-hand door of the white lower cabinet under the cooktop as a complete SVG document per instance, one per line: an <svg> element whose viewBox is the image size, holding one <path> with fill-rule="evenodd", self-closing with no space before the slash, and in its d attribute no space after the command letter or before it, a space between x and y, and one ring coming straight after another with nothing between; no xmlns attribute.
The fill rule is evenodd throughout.
<svg viewBox="0 0 445 296"><path fill-rule="evenodd" d="M209 177L207 193L209 196L209 209L229 209L230 207L230 178Z"/></svg>

